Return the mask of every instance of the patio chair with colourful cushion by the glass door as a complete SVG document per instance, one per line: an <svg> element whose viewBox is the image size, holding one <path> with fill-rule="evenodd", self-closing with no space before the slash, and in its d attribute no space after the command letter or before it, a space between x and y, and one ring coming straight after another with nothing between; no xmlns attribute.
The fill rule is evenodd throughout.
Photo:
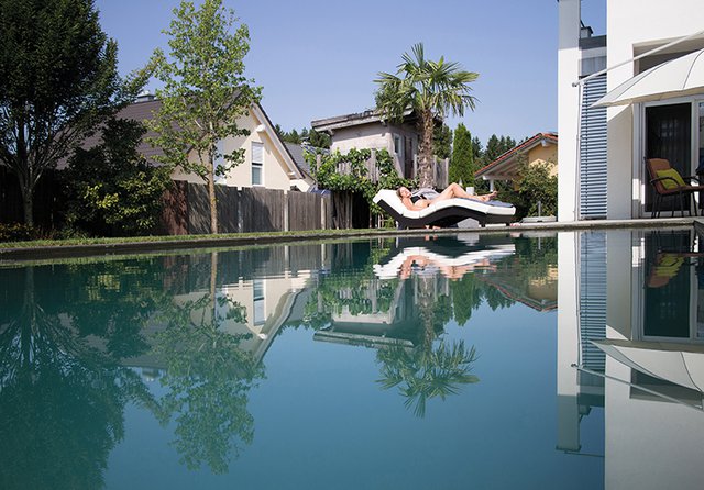
<svg viewBox="0 0 704 490"><path fill-rule="evenodd" d="M652 202L652 218L660 216L660 207L664 198L673 197L680 202L680 213L684 215L684 205L686 202L688 212L692 215L690 202L694 202L694 193L704 191L704 186L698 185L698 179L694 176L682 177L664 158L648 158L646 167L650 176L650 183L654 190ZM691 183L695 181L696 186ZM697 214L696 205L694 205L694 215ZM672 207L672 216L674 216L674 205Z"/></svg>

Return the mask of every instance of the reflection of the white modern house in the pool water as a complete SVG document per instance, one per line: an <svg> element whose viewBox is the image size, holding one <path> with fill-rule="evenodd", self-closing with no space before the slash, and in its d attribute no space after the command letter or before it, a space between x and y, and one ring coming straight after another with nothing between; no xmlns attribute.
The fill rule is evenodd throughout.
<svg viewBox="0 0 704 490"><path fill-rule="evenodd" d="M606 488L701 487L702 250L692 230L559 237L558 448L604 407Z"/></svg>

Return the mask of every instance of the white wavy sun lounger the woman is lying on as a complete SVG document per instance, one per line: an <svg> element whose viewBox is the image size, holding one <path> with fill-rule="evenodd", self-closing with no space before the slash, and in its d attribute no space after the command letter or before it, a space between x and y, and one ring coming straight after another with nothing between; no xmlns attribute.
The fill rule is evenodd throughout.
<svg viewBox="0 0 704 490"><path fill-rule="evenodd" d="M509 224L516 208L499 201L475 201L453 198L430 204L420 211L411 211L404 205L395 190L382 189L374 196L374 202L389 213L399 229L421 229L426 226L452 226L472 218L481 226L487 223Z"/></svg>

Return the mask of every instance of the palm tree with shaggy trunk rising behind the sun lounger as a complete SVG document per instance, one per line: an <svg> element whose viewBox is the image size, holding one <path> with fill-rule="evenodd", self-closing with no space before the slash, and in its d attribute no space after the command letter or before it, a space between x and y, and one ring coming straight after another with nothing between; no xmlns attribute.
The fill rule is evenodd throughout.
<svg viewBox="0 0 704 490"><path fill-rule="evenodd" d="M409 109L418 114L421 134L420 187L432 187L432 131L436 118L448 114L464 115L464 109L474 110L475 98L470 94L470 83L479 74L465 71L457 63L426 59L422 43L404 53L404 63L396 75L380 73L376 107L386 118L400 120Z"/></svg>

